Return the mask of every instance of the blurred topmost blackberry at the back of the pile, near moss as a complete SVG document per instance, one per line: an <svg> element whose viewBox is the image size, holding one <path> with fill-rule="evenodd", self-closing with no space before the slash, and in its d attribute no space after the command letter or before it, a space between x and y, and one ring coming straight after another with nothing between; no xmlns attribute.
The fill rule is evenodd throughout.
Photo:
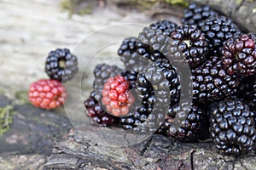
<svg viewBox="0 0 256 170"><path fill-rule="evenodd" d="M204 20L209 16L218 16L218 12L209 6L190 3L189 7L184 9L181 21L183 25L197 25L201 27L204 24Z"/></svg>

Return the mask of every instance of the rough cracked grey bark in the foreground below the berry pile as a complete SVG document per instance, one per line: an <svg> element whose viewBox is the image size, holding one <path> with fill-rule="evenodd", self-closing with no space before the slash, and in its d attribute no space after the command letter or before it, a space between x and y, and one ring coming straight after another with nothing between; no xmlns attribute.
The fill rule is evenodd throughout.
<svg viewBox="0 0 256 170"><path fill-rule="evenodd" d="M113 148L84 140L77 132L55 144L45 164L48 169L247 169L256 167L256 155L222 156L212 143L183 144L154 134L141 144Z"/></svg>

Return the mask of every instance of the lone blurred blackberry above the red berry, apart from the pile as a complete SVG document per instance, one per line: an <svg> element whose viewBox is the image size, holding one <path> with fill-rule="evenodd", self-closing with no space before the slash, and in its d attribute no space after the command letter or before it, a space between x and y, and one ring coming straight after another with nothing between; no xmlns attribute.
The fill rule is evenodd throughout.
<svg viewBox="0 0 256 170"><path fill-rule="evenodd" d="M51 79L66 82L79 71L78 59L70 53L69 49L58 48L49 52L44 71Z"/></svg>

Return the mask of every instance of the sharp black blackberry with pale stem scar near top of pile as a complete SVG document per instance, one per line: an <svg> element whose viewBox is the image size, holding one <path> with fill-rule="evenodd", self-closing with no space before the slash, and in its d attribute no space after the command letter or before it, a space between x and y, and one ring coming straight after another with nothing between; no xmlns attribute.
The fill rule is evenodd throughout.
<svg viewBox="0 0 256 170"><path fill-rule="evenodd" d="M178 26L172 32L171 38L170 52L173 55L171 57L175 59L185 58L190 68L195 68L207 60L207 41L197 26Z"/></svg>

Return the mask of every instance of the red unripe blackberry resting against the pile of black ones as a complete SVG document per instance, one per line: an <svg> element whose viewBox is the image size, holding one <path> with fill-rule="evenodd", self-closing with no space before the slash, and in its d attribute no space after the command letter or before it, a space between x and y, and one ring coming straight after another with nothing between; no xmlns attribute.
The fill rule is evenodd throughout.
<svg viewBox="0 0 256 170"><path fill-rule="evenodd" d="M129 82L125 77L110 77L102 89L102 104L113 116L126 116L134 97L129 92Z"/></svg>

